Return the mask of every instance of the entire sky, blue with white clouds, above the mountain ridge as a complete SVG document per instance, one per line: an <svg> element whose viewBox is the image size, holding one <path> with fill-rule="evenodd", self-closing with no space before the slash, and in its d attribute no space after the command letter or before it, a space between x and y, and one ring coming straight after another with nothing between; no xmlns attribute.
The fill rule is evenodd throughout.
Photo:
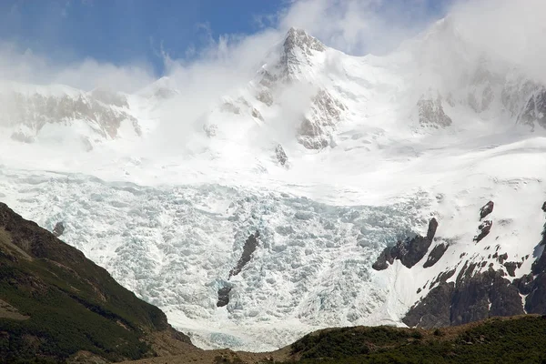
<svg viewBox="0 0 546 364"><path fill-rule="evenodd" d="M210 100L248 82L290 26L381 56L446 16L544 78L545 11L544 0L0 0L0 81L132 93L168 76Z"/></svg>

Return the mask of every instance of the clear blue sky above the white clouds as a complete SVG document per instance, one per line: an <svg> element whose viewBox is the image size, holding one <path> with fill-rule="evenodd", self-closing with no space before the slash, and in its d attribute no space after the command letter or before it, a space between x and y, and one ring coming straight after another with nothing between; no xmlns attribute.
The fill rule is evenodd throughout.
<svg viewBox="0 0 546 364"><path fill-rule="evenodd" d="M354 17L371 11L387 24L396 23L393 28L419 30L421 25L444 16L450 3L450 0L3 0L0 39L18 52L32 52L55 64L92 59L114 66L137 65L154 76L163 76L167 73L168 59L190 62L202 56L210 45L217 45L221 38L240 39L268 29L283 31L286 30L283 27L292 25L321 27L318 19L312 19L318 15L314 12L320 6L328 8L328 12L346 12L349 25ZM328 14L318 16L324 15ZM338 38L323 34L320 27L317 36L326 38L321 40L349 54L362 56L374 50L380 53L396 43L389 41L382 49L370 48L369 43L382 35L372 35L369 30L364 42L344 45L339 36L359 37L362 30L359 26L341 35L340 29L330 29L330 33L338 33Z"/></svg>

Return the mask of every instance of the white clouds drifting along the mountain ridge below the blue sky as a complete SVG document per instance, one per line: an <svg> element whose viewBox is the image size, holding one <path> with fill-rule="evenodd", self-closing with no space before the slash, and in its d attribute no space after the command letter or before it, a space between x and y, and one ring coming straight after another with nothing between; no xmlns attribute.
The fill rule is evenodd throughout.
<svg viewBox="0 0 546 364"><path fill-rule="evenodd" d="M434 20L428 9L430 4L430 0L291 1L278 14L258 16L260 28L255 34L214 38L210 25L198 25L204 46L189 47L186 59L173 59L162 45L158 54L165 62L167 75L190 96L192 105L203 106L248 82L268 50L290 26L304 28L326 45L349 54L382 54ZM483 49L524 65L534 74L542 74L546 25L541 15L546 2L459 0L454 4L451 18ZM154 73L152 66L142 63L115 66L86 59L61 65L36 56L31 50L0 44L0 79L65 83L84 89L112 86L132 92L152 82Z"/></svg>

